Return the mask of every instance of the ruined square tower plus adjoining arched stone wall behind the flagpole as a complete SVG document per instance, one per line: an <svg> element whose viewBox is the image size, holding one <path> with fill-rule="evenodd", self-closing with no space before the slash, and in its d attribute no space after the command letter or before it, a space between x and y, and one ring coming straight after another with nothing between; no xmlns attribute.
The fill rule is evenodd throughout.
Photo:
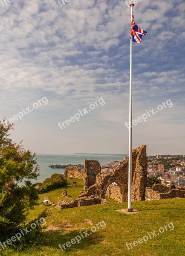
<svg viewBox="0 0 185 256"><path fill-rule="evenodd" d="M93 163L95 162L95 166ZM105 199L107 188L115 182L121 191L121 202L127 202L128 194L128 158L112 173L101 176L101 168L97 161L84 160L84 172L90 177L84 179L86 191L79 195L96 195ZM99 171L98 171L99 169ZM92 184L94 183L94 184ZM91 184L91 186L89 186ZM147 186L147 156L146 145L142 145L132 151L132 201L145 200L145 189Z"/></svg>

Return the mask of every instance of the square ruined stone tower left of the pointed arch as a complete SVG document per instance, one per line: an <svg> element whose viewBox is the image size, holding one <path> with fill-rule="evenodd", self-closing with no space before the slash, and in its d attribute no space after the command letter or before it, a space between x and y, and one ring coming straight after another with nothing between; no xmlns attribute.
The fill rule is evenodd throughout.
<svg viewBox="0 0 185 256"><path fill-rule="evenodd" d="M101 166L97 160L84 159L84 190L96 183L97 175L101 174Z"/></svg>

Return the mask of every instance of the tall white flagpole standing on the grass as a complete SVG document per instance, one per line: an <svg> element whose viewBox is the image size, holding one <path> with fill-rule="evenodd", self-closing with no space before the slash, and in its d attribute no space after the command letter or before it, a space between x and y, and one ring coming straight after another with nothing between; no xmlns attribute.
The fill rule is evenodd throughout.
<svg viewBox="0 0 185 256"><path fill-rule="evenodd" d="M131 20L134 4L131 7ZM128 159L128 212L132 212L132 59L133 59L133 41L130 38L130 104L129 104L129 159Z"/></svg>

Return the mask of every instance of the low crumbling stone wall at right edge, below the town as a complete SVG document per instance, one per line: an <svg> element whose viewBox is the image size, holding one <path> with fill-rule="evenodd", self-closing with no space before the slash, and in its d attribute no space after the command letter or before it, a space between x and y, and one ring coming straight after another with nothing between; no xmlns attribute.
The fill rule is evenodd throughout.
<svg viewBox="0 0 185 256"><path fill-rule="evenodd" d="M159 200L168 198L185 198L185 193L181 189L169 189L169 187L156 184L146 188L146 200Z"/></svg>

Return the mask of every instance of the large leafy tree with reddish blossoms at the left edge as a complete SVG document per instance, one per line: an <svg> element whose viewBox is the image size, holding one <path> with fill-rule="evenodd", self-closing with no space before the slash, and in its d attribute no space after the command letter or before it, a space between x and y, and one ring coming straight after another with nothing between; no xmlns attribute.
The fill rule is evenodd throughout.
<svg viewBox="0 0 185 256"><path fill-rule="evenodd" d="M0 241L14 235L26 223L26 216L38 201L31 183L37 179L36 154L25 151L22 142L13 143L9 131L13 124L0 122Z"/></svg>

